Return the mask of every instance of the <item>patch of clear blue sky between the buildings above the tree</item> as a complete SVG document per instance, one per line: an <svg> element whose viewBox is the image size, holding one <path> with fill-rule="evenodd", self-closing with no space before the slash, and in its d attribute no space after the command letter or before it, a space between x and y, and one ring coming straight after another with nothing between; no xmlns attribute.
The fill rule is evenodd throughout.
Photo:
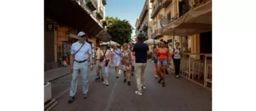
<svg viewBox="0 0 256 111"><path fill-rule="evenodd" d="M140 16L145 0L107 0L106 16L128 20L133 26L135 35L135 23Z"/></svg>

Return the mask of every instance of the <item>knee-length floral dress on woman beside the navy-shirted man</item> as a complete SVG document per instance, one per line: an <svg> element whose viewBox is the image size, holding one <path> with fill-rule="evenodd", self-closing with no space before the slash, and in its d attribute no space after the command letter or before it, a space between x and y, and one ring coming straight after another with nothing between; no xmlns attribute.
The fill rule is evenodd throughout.
<svg viewBox="0 0 256 111"><path fill-rule="evenodd" d="M131 71L130 54L131 54L131 51L129 51L129 50L127 50L127 52L121 53L122 59L121 59L121 65L119 67L119 69L121 69L121 71ZM129 63L127 63L127 61L129 61Z"/></svg>

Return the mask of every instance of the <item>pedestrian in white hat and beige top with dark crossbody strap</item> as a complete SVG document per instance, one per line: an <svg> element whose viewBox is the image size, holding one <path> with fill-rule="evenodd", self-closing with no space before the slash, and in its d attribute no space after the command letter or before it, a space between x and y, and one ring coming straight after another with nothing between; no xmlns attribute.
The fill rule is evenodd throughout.
<svg viewBox="0 0 256 111"><path fill-rule="evenodd" d="M100 51L100 67L101 73L104 78L103 85L108 86L108 69L112 64L111 51L107 49L108 44L106 42L102 43L102 50Z"/></svg>

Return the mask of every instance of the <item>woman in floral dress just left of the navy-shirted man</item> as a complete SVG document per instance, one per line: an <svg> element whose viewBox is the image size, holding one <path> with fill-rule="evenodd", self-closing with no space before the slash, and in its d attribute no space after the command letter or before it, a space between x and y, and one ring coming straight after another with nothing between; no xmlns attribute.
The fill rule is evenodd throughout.
<svg viewBox="0 0 256 111"><path fill-rule="evenodd" d="M131 54L132 52L128 49L128 44L123 44L123 51L121 52L121 66L119 67L123 71L123 77L128 81L128 85L131 85L130 76L131 76Z"/></svg>

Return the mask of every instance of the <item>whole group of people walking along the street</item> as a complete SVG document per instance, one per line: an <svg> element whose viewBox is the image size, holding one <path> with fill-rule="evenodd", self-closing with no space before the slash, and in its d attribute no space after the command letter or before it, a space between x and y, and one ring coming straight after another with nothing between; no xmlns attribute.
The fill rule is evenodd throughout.
<svg viewBox="0 0 256 111"><path fill-rule="evenodd" d="M89 72L93 71L93 65L96 65L96 79L102 80L103 84L109 86L108 82L108 69L113 65L115 68L115 76L119 78L123 72L124 80L128 86L131 86L131 76L136 76L137 82L137 95L142 95L142 88L146 88L144 80L144 71L146 69L147 55L149 55L149 48L142 40L144 36L137 37L137 42L125 43L122 49L114 45L113 50L107 48L108 44L103 42L97 47L96 54L93 55L93 45L86 41L88 37L85 33L78 33L79 40L72 44L71 57L70 57L70 71L72 72L72 82L70 86L70 99L69 103L75 100L75 93L77 89L78 76L81 74L83 83L83 97L88 97L87 92L89 89ZM176 68L180 64L181 50L179 50L179 43L177 42L176 48L173 48L173 53L169 53L165 42L158 43L158 48L154 49L154 61L156 78L159 77L158 83L162 82L165 86L165 74L167 72L166 66L170 63L169 57L173 55L173 62L175 64L175 74L179 78L179 69Z"/></svg>

